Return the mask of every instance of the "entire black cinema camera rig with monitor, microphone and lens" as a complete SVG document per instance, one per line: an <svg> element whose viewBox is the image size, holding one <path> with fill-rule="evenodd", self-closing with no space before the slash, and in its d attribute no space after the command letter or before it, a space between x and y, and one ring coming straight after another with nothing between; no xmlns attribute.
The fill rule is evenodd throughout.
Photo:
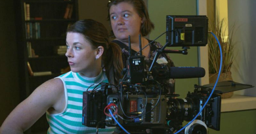
<svg viewBox="0 0 256 134"><path fill-rule="evenodd" d="M95 90L83 93L83 125L97 128L116 126L125 133L146 133L148 129L152 133L206 134L208 127L220 130L219 94L223 90L212 92L211 84L194 85L194 92L188 92L185 98L177 98L178 94L169 93L162 84L163 80L169 78L200 78L205 75L205 70L201 67L167 67L156 63L161 53L187 54L189 46L205 46L207 17L167 16L166 24L167 43L158 50L149 69L144 65L140 46L138 55L130 54L118 87L101 83ZM166 46L182 46L184 50L165 50ZM230 86L237 84L230 83ZM116 93L112 92L115 87L118 88ZM184 121L190 124L182 129Z"/></svg>

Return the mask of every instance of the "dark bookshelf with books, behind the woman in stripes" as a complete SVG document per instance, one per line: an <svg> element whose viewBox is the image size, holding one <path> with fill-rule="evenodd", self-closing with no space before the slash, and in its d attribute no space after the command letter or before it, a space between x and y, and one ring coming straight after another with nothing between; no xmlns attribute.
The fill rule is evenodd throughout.
<svg viewBox="0 0 256 134"><path fill-rule="evenodd" d="M61 75L61 70L69 66L63 49L58 48L66 46L66 29L78 20L78 3L77 0L20 0L14 5L20 101L23 101L37 86ZM30 131L47 129L43 116Z"/></svg>

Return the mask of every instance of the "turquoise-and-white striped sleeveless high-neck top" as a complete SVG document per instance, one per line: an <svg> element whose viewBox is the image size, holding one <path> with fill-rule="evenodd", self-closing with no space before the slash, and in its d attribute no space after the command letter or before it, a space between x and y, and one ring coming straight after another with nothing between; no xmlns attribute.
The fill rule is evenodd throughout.
<svg viewBox="0 0 256 134"><path fill-rule="evenodd" d="M82 107L83 92L93 90L100 82L108 82L106 74L102 71L95 78L87 78L72 71L58 76L64 83L64 93L66 97L66 106L63 112L59 114L46 113L49 123L48 134L56 133L96 133L95 127L86 127L82 125ZM109 134L114 132L115 127L106 127L99 129L98 133Z"/></svg>

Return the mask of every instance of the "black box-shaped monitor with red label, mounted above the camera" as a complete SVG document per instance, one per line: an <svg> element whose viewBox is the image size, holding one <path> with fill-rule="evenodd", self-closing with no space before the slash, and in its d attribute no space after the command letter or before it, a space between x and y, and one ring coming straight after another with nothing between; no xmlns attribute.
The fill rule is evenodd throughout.
<svg viewBox="0 0 256 134"><path fill-rule="evenodd" d="M167 46L205 46L207 16L166 16Z"/></svg>

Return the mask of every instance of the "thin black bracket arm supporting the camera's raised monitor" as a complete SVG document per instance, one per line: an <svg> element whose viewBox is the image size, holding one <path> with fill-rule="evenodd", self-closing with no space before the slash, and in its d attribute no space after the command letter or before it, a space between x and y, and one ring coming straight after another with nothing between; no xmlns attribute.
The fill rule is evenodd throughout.
<svg viewBox="0 0 256 134"><path fill-rule="evenodd" d="M166 46L169 44L169 42L165 43L165 45L160 49L157 50L156 55L152 61L152 64L150 65L150 69L148 71L152 71L152 68L154 66L154 64L156 63L156 60L158 59L158 57L160 56L161 53L173 53L173 54L188 54L188 49L190 49L189 46L183 46L182 49L184 50L165 50Z"/></svg>

